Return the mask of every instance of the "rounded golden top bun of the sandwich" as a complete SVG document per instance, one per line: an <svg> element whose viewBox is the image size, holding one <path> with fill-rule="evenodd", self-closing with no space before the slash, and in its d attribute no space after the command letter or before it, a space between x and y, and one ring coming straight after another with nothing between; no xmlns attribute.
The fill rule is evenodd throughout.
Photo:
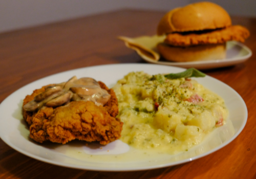
<svg viewBox="0 0 256 179"><path fill-rule="evenodd" d="M157 28L157 34L200 31L231 26L228 13L219 5L200 2L176 8L165 14Z"/></svg>

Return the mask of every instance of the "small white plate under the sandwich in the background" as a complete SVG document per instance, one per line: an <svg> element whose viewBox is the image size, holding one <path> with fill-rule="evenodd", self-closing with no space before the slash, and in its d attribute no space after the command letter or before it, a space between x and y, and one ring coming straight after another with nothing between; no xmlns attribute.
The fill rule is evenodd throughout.
<svg viewBox="0 0 256 179"><path fill-rule="evenodd" d="M168 61L155 61L151 59L144 59L149 63L164 64L170 66L178 66L181 68L196 68L196 69L214 69L224 66L231 66L238 63L245 62L252 55L251 50L243 43L238 41L227 42L226 59L222 60L209 60L209 61L194 61L194 62L168 62Z"/></svg>

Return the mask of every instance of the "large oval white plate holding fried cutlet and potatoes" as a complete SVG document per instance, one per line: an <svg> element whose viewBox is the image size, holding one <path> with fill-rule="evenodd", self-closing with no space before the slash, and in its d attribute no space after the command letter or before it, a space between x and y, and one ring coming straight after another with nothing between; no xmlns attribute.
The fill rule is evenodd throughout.
<svg viewBox="0 0 256 179"><path fill-rule="evenodd" d="M206 76L198 78L197 81L224 98L229 110L228 125L217 128L212 132L214 138L208 136L202 144L186 152L169 155L142 151L129 148L121 141L103 147L95 143L85 146L83 141L72 141L66 145L50 142L38 144L29 138L29 130L22 119L21 110L23 99L34 89L46 84L67 81L74 75L79 78L93 77L112 87L118 79L132 71L159 74L177 73L184 69L156 64L112 64L92 66L42 78L18 89L2 102L0 137L13 149L54 165L87 170L133 171L173 166L201 158L234 140L246 124L247 108L239 94L221 81Z"/></svg>

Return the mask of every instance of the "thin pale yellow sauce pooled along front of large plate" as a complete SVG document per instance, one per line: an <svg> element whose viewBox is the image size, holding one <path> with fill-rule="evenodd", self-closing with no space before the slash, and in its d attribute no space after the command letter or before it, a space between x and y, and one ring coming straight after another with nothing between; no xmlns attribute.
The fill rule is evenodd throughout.
<svg viewBox="0 0 256 179"><path fill-rule="evenodd" d="M63 153L66 156L69 156L72 159L77 159L81 162L92 162L95 165L104 164L126 164L126 165L135 165L136 163L141 163L141 165L152 165L177 162L180 160L185 160L193 158L197 155L208 152L222 143L230 140L234 135L235 129L230 120L222 128L217 128L216 130L208 133L202 143L191 147L187 151L179 151L174 153L171 150L163 151L161 148L150 148L150 149L138 149L130 146L130 150L125 153L113 153L112 150L116 150L116 147L113 149L108 149L107 152L110 154L88 154L85 147L93 146L94 143L89 143L88 146L84 145L81 141L72 141L69 145L61 145L56 147L54 151ZM52 144L50 144L52 145ZM102 150L104 150L102 146ZM123 148L118 148L122 150Z"/></svg>

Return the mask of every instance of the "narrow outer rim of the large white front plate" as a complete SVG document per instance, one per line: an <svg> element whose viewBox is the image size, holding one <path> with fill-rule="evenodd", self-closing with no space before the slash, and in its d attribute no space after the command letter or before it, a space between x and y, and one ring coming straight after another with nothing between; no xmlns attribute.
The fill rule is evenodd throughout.
<svg viewBox="0 0 256 179"><path fill-rule="evenodd" d="M50 78L52 76L56 76L56 75L61 75L61 74L64 74L64 73L72 73L72 72L75 72L77 70L83 70L83 69L89 69L89 68L109 68L109 67L119 67L120 66L124 66L129 69L132 69L133 66L137 66L139 67L139 69L143 70L143 67L145 66L158 66L159 68L170 68L170 69L176 69L176 70L179 70L179 71L183 71L185 69L182 69L182 68L177 68L177 67L173 67L173 66L165 66L165 65L159 65L159 64L138 64L138 63L123 63L123 64L107 64L107 65L97 65L97 66L90 66L90 67L86 67L86 68L80 68L80 69L75 69L75 70L70 70L70 71L66 71L66 72L61 72L61 73L57 73L57 74L53 74L53 75L50 75L50 76L47 76L47 77L44 77L44 78L41 78L41 79L38 79L34 82L31 82L19 89L17 89L17 91L15 91L14 93L18 93L21 89L24 89L24 88L27 88L28 86L34 84L35 82L40 82L41 80L44 80L44 79L47 79L47 78ZM130 66L129 66L130 65ZM130 70L131 71L131 70ZM122 76L120 76L120 78L122 78ZM120 79L119 78L119 79ZM76 169L87 169L87 170L95 170L95 171L139 171L139 170L148 170L148 169L157 169L157 168L163 168L163 167L168 167L168 166L174 166L174 165L178 165L178 164L182 164L182 163L186 163L186 162L189 162L189 161L193 161L193 160L196 160L196 159L199 159L199 158L202 158L203 156L206 156L212 152L215 152L221 148L223 148L224 146L226 146L227 144L229 144L230 142L232 142L234 139L237 138L237 136L241 133L241 131L243 130L243 128L245 127L246 125L246 122L247 122L247 117L248 117L248 111L247 111L247 107L246 107L246 104L245 102L243 101L242 97L236 92L234 91L234 89L232 89L231 87L229 87L227 84L215 79L215 78L212 78L210 76L207 76L207 78L211 79L211 80L215 80L215 81L218 81L221 85L227 87L230 89L230 91L232 91L232 93L236 94L237 97L240 99L240 102L241 104L245 107L244 110L245 110L245 116L244 116L244 119L243 119L243 122L242 122L242 125L241 127L239 128L239 130L234 134L234 136L232 136L228 141L225 141L224 143L222 143L221 145L219 145L218 147L216 147L215 149L212 149L208 152L205 152L203 154L200 154L199 156L195 156L193 158L189 158L189 159L185 159L185 160L181 160L181 161L177 161L177 162L173 162L173 163L169 163L169 164L164 164L164 165L157 165L157 166L151 166L151 167L136 167L136 168L126 168L126 169L121 169L121 168L95 168L95 167L86 167L84 168L84 166L76 166L76 165L70 165L70 164L65 164L65 163L59 163L59 162L55 162L55 161L52 161L52 160L48 160L48 159L45 159L45 158L41 158L40 156L37 156L37 155L34 155L34 154L31 154L27 151L24 151L18 147L16 147L15 145L13 145L12 143L10 143L10 141L6 138L5 136L5 133L2 132L2 130L0 130L0 137L1 139L7 144L9 145L10 147L12 147L13 149L17 150L18 152L20 153L23 153L27 156L30 156L31 158L33 159L36 159L36 160L39 160L39 161L42 161L42 162L46 162L46 163L49 163L49 164L54 164L54 165L58 165L58 166L62 166L62 167L69 167L69 168L76 168ZM42 85L45 85L45 84L42 84ZM41 86L42 86L41 85ZM14 94L13 93L13 94ZM11 94L10 96L8 96L4 101L2 101L2 103L0 104L0 117L2 117L2 113L5 109L5 106L4 104L6 103L6 101L9 100L9 98L13 95ZM3 120L0 121L0 124L3 124ZM1 129L1 126L3 125L0 125L0 129Z"/></svg>

